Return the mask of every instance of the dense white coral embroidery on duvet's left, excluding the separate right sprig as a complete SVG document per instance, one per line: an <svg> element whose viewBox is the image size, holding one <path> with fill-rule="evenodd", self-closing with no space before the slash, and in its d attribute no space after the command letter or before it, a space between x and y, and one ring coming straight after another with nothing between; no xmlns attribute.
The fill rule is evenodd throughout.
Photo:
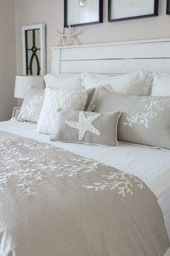
<svg viewBox="0 0 170 256"><path fill-rule="evenodd" d="M45 152L39 152L39 150L46 151L49 149L53 150L56 156L58 155L56 160L49 158ZM27 150L33 150L34 156L29 155ZM37 195L37 182L52 179L51 172L55 177L73 177L80 171L88 173L97 169L97 161L81 157L76 158L72 155L68 157L65 163L65 158L60 155L63 152L65 150L38 142L1 144L0 191L7 189L11 183L14 183L19 190L24 191L27 195Z"/></svg>

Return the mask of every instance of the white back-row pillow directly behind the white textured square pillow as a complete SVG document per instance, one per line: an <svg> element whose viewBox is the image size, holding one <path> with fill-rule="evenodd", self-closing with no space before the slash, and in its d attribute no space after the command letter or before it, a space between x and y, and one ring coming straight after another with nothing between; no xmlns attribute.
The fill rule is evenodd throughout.
<svg viewBox="0 0 170 256"><path fill-rule="evenodd" d="M81 89L80 74L53 75L46 74L44 77L45 86L58 89L79 90Z"/></svg>

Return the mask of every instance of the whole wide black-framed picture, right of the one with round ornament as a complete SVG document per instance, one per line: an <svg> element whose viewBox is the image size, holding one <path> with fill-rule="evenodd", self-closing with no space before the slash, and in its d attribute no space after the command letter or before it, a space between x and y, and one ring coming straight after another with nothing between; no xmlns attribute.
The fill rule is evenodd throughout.
<svg viewBox="0 0 170 256"><path fill-rule="evenodd" d="M108 21L158 16L158 0L108 0Z"/></svg>

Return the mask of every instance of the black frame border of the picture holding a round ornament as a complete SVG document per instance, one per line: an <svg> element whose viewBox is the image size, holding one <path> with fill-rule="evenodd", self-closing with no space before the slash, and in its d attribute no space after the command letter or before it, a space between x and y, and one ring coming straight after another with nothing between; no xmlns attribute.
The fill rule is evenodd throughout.
<svg viewBox="0 0 170 256"><path fill-rule="evenodd" d="M90 20L89 20L88 22L84 22L84 23L69 24L69 22L68 22L68 1L71 1L71 0L64 0L64 27L68 27L69 25L71 27L83 26L83 25L93 25L93 24L98 24L98 23L103 22L103 0L99 0L99 19L98 20L93 21L93 22L90 22ZM92 1L92 0L90 0L90 1Z"/></svg>

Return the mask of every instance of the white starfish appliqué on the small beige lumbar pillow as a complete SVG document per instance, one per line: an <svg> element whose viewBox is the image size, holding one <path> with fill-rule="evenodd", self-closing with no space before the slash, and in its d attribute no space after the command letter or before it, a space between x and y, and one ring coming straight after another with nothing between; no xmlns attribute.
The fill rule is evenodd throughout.
<svg viewBox="0 0 170 256"><path fill-rule="evenodd" d="M100 114L92 115L86 118L83 112L79 113L79 121L65 121L69 127L79 129L79 140L82 140L86 132L92 132L94 135L99 136L100 132L97 128L91 124L92 121L96 120Z"/></svg>

